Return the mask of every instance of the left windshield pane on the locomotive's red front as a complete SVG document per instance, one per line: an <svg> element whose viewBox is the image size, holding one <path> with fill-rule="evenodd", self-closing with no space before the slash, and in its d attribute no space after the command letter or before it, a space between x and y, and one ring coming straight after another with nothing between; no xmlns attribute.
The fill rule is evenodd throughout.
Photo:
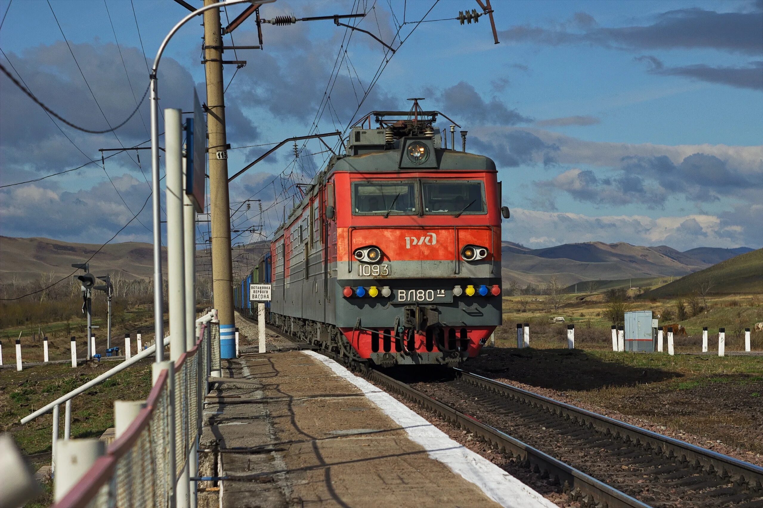
<svg viewBox="0 0 763 508"><path fill-rule="evenodd" d="M353 182L353 215L415 215L415 182Z"/></svg>

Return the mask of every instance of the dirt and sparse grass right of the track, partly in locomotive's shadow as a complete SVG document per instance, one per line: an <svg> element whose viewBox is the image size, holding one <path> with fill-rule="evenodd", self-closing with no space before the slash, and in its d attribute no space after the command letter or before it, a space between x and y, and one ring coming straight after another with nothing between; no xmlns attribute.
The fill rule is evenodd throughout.
<svg viewBox="0 0 763 508"><path fill-rule="evenodd" d="M496 347L485 348L466 369L763 465L759 356Z"/></svg>

